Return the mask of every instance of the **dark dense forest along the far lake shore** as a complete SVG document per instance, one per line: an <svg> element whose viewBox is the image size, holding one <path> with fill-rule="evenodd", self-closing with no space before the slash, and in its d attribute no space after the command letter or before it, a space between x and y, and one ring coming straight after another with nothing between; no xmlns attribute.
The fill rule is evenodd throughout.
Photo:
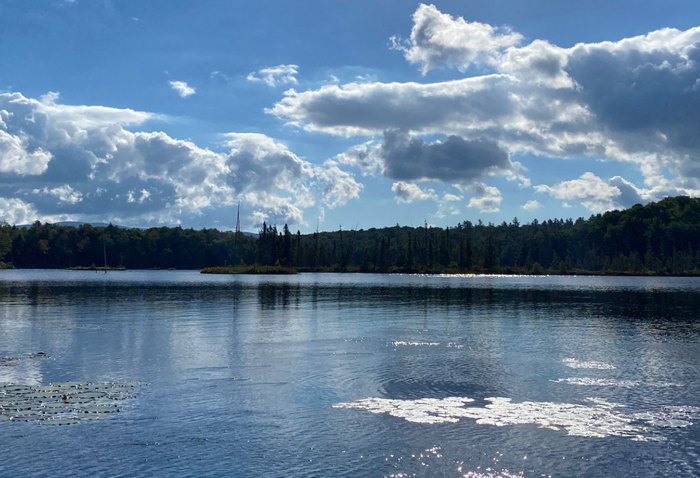
<svg viewBox="0 0 700 478"><path fill-rule="evenodd" d="M41 224L0 227L18 268L201 269L259 264L301 271L700 275L700 199L667 198L577 220L292 233Z"/></svg>

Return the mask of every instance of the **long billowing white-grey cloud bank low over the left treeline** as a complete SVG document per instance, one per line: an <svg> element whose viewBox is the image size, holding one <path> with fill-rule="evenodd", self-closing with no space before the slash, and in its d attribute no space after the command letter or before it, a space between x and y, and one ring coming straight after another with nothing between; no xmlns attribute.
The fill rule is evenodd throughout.
<svg viewBox="0 0 700 478"><path fill-rule="evenodd" d="M232 133L228 150L212 151L125 128L149 113L63 105L54 94L2 93L0 110L0 141L10 138L0 142L0 197L12 220L179 223L241 200L251 216L298 223L319 200L338 207L361 191L337 163L314 165L264 135Z"/></svg>

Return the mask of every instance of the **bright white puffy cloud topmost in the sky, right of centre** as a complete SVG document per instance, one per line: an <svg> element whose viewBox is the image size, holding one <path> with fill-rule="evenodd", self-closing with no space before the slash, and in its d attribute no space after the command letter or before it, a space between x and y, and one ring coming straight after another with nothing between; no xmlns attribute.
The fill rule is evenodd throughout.
<svg viewBox="0 0 700 478"><path fill-rule="evenodd" d="M420 65L423 74L434 68L454 67L465 71L473 63L496 61L501 50L517 45L522 36L508 28L468 22L421 4L413 14L411 38L403 44L392 37L392 46L406 59Z"/></svg>

